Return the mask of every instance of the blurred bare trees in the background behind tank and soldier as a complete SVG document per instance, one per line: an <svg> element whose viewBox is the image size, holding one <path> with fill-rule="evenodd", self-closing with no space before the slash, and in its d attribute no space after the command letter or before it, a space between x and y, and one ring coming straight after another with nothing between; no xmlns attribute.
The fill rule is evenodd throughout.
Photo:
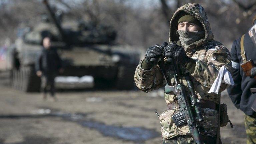
<svg viewBox="0 0 256 144"><path fill-rule="evenodd" d="M195 2L204 7L215 39L224 43L233 41L248 30L256 10L255 0L159 0L159 7L144 7L144 4L136 7L132 4L135 0L50 2L52 5L60 4L67 8L64 20L112 25L117 31L116 43L145 48L168 40L171 17L178 7L186 3ZM14 42L19 28L36 26L43 13L46 11L41 1L0 0L0 45L5 39Z"/></svg>

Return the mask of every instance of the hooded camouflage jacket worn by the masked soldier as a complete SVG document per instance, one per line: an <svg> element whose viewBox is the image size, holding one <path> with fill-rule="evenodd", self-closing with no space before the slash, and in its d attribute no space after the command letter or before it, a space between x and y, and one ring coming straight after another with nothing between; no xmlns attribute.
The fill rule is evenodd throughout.
<svg viewBox="0 0 256 144"><path fill-rule="evenodd" d="M213 34L210 29L207 15L203 7L196 3L189 3L178 8L170 21L169 41L180 44L179 36L175 33L177 30L178 14L186 12L196 17L203 25L205 36L185 48L187 56L196 61L195 70L191 72L193 78L195 92L199 99L209 100L220 103L219 94L208 93L214 80L218 76L219 69L222 66L232 72L230 53L228 49L220 42L213 40ZM143 61L143 60L142 60ZM150 70L142 68L142 61L139 63L135 71L135 83L143 92L164 87L165 80L158 65L153 66ZM187 83L184 79L180 80L185 86ZM172 79L172 82L174 80ZM229 85L222 83L220 91L225 90ZM187 87L186 87L187 88ZM165 93L166 103L173 102L175 95ZM160 115L161 131L163 140L175 137L177 135L190 135L188 126L176 127L171 116L178 112L177 110L167 110ZM202 135L213 136L217 134L218 128L218 111L210 108L202 108L204 121L200 122L200 130Z"/></svg>

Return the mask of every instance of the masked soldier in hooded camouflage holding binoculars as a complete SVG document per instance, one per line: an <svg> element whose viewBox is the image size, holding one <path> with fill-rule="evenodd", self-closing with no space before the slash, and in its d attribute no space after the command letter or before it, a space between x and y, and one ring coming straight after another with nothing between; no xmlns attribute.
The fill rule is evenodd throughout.
<svg viewBox="0 0 256 144"><path fill-rule="evenodd" d="M225 66L228 71L232 69L228 49L213 40L207 15L203 7L196 3L186 4L176 10L170 21L169 41L171 44L164 50L160 45L147 50L146 57L135 71L134 79L137 87L143 92L163 87L165 81L160 68L151 64L150 59L158 59L162 53L165 58L175 58L183 69L182 73L190 72L196 95L202 100L204 121L200 122L200 134L204 143L221 143L219 125L223 124L218 122L220 91L225 90L229 85L221 83L218 94L208 91L218 76L220 67ZM168 69L168 66L165 65L164 68ZM181 81L187 88L186 81L184 79ZM171 82L174 83L173 78ZM188 126L177 127L171 119L179 109L176 96L165 93L165 101L167 110L159 117L163 144L195 143Z"/></svg>

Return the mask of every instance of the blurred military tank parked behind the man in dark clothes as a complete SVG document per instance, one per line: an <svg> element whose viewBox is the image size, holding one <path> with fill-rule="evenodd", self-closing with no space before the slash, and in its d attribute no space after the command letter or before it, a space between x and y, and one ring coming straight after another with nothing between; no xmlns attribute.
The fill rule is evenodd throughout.
<svg viewBox="0 0 256 144"><path fill-rule="evenodd" d="M15 44L8 48L6 70L10 71L13 88L39 91L40 78L34 65L45 34L52 36L52 46L62 59L62 76L93 76L97 88L134 88L134 71L140 59L137 50L114 44L116 32L108 25L78 22L76 27L63 26L62 14L47 0L43 3L48 15L33 27L21 28Z"/></svg>

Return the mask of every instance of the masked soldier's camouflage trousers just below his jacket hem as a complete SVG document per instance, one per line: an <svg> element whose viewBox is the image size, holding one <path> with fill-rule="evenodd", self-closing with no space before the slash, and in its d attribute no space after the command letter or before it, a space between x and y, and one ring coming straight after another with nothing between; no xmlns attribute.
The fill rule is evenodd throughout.
<svg viewBox="0 0 256 144"><path fill-rule="evenodd" d="M216 144L216 137L202 136L204 144ZM178 135L174 138L163 140L162 144L196 144L191 136ZM219 141L221 143L221 140Z"/></svg>

